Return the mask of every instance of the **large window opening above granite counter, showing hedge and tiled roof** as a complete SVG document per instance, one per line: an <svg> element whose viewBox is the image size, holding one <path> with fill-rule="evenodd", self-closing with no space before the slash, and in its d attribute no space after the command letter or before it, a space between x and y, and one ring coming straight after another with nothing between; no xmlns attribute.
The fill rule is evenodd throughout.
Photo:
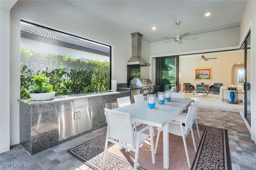
<svg viewBox="0 0 256 170"><path fill-rule="evenodd" d="M56 96L110 90L110 46L26 21L20 34L21 98L30 98L32 77L42 73Z"/></svg>

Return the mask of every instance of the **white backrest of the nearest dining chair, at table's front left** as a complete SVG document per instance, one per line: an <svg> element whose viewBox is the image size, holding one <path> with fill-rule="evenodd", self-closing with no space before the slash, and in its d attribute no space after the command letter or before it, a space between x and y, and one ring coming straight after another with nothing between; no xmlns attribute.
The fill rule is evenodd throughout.
<svg viewBox="0 0 256 170"><path fill-rule="evenodd" d="M105 108L105 115L108 123L107 137L128 143L135 148L130 113Z"/></svg>

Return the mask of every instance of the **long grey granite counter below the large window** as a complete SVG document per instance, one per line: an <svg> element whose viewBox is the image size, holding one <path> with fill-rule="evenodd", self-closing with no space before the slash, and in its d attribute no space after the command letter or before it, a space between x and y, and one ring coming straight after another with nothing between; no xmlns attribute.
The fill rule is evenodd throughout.
<svg viewBox="0 0 256 170"><path fill-rule="evenodd" d="M52 100L33 101L21 99L20 102L20 144L30 154L36 154L78 136L106 126L104 108L106 103L115 102L117 98L129 96L128 91L93 92L55 96ZM60 113L70 113L74 110L85 110L91 117L90 128L78 131L59 140ZM82 111L81 111L82 112ZM72 118L66 120L72 121ZM62 120L64 121L64 120ZM75 123L71 123L75 124ZM82 122L82 124L84 124ZM69 130L70 127L62 129ZM79 128L78 128L79 129Z"/></svg>

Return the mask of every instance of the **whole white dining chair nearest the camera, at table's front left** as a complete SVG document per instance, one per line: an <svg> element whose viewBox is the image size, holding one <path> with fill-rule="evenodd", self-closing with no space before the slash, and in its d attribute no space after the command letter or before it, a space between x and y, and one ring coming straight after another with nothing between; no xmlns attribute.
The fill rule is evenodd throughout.
<svg viewBox="0 0 256 170"><path fill-rule="evenodd" d="M105 108L105 115L108 123L108 128L107 128L107 134L106 134L106 143L105 143L103 165L102 165L103 170L105 169L105 165L106 165L106 154L108 149L108 142L112 142L116 145L126 148L126 152L127 152L127 149L133 150L135 152L134 170L136 170L138 166L137 164L138 164L138 154L139 154L140 145L145 140L149 139L150 145L151 145L152 163L155 164L154 143L153 143L152 130L150 126L146 126L137 132L133 130L130 113L120 112L120 111L115 111L115 110L110 110ZM142 133L147 129L149 130L149 135Z"/></svg>

